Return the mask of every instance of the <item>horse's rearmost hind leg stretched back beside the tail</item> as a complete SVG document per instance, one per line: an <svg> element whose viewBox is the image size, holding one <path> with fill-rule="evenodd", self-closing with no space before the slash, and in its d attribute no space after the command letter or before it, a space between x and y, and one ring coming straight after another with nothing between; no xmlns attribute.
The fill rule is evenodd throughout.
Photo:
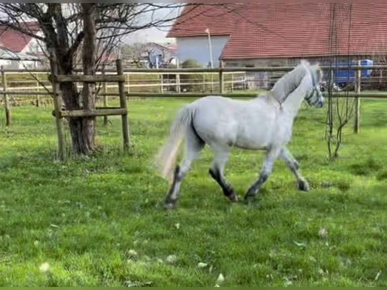
<svg viewBox="0 0 387 290"><path fill-rule="evenodd" d="M185 156L180 165L176 165L173 181L165 198L165 208L170 209L175 207L177 198L180 192L180 185L184 176L188 173L193 161L198 159L200 152L205 146L205 142L195 134L195 132L188 131L185 140Z"/></svg>

